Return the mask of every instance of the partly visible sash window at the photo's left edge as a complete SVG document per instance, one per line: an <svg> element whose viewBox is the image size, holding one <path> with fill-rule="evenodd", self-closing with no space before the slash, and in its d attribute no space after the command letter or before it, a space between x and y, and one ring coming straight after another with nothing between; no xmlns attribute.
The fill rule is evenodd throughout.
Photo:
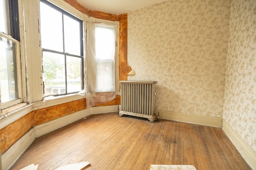
<svg viewBox="0 0 256 170"><path fill-rule="evenodd" d="M22 100L18 1L0 0L0 109Z"/></svg>

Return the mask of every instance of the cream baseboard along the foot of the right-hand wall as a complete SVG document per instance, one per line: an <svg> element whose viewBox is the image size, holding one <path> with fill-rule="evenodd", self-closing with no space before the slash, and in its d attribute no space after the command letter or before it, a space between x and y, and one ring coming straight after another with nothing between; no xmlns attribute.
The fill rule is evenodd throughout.
<svg viewBox="0 0 256 170"><path fill-rule="evenodd" d="M253 170L256 170L256 152L252 149L252 147L250 147L225 120L223 120L222 129L246 162Z"/></svg>

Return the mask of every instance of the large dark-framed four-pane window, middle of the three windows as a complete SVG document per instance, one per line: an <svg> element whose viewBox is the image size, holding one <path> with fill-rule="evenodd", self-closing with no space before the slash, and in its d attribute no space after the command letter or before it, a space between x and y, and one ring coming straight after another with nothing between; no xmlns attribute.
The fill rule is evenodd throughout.
<svg viewBox="0 0 256 170"><path fill-rule="evenodd" d="M44 95L83 87L83 22L46 0L40 2Z"/></svg>

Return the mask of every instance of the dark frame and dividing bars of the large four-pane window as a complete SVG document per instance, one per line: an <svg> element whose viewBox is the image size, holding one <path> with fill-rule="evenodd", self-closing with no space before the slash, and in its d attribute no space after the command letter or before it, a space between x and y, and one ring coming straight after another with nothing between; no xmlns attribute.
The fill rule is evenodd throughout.
<svg viewBox="0 0 256 170"><path fill-rule="evenodd" d="M63 16L66 15L66 16L68 16L68 17L70 17L70 18L72 18L72 19L74 19L74 20L76 20L80 23L80 56L69 54L69 53L66 53L66 52L60 52L60 51L54 51L54 50L51 50L51 49L42 48L42 60L43 60L43 52L50 52L50 53L64 55L64 60L65 60L64 69L65 69L65 88L66 88L66 92L64 94L47 95L45 97L48 97L48 96L63 96L63 95L68 95L68 94L77 94L78 92L70 92L70 93L67 92L68 81L67 81L66 58L67 58L67 56L70 56L70 57L77 57L77 58L81 59L81 67L80 67L81 68L81 73L80 74L81 74L81 89L83 90L84 86L85 86L85 83L84 83L84 77L85 77L84 76L85 75L85 73L84 73L84 51L85 51L85 49L84 49L84 37L85 37L85 35L84 35L84 18L82 18L80 15L77 16L76 14L73 14L72 12L69 12L69 10L55 4L51 0L40 0L40 2L50 6L51 8L54 8L58 12L62 13L62 22L63 22ZM62 30L63 29L64 29L64 24L62 24ZM64 31L62 32L62 37L64 37ZM65 43L64 39L63 39L63 43ZM65 51L65 48L63 50ZM43 64L43 61L42 61L42 64ZM43 82L43 84L44 84L44 82ZM43 89L43 94L45 94L45 89Z"/></svg>

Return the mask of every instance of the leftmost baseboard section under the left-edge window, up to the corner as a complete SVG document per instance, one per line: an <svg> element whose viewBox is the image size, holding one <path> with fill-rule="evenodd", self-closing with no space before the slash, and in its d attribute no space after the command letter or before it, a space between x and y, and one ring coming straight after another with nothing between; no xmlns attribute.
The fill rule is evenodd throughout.
<svg viewBox="0 0 256 170"><path fill-rule="evenodd" d="M8 170L31 145L35 139L34 128L30 129L14 145L12 145L4 154L2 154L2 169Z"/></svg>

